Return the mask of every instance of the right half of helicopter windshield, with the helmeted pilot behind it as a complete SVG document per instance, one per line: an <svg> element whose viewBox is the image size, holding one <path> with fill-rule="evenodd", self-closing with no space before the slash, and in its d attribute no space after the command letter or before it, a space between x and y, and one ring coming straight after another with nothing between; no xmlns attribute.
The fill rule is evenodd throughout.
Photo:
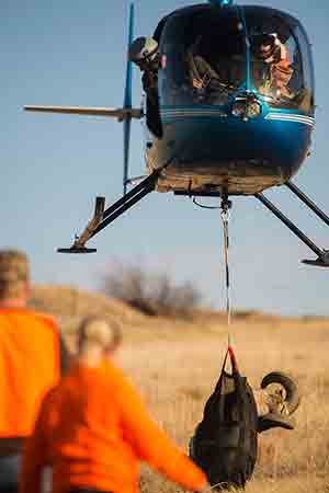
<svg viewBox="0 0 329 493"><path fill-rule="evenodd" d="M298 21L279 11L247 7L245 12L254 89L270 106L311 112L311 61Z"/></svg>

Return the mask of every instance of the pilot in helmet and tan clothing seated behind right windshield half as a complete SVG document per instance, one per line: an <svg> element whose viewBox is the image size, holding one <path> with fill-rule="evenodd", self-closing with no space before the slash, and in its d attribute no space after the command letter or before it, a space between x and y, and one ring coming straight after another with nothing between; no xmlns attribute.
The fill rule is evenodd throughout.
<svg viewBox="0 0 329 493"><path fill-rule="evenodd" d="M288 83L294 71L287 49L277 34L253 36L252 48L254 57L270 68L270 88L275 91L275 95L291 99L293 94L288 89Z"/></svg>

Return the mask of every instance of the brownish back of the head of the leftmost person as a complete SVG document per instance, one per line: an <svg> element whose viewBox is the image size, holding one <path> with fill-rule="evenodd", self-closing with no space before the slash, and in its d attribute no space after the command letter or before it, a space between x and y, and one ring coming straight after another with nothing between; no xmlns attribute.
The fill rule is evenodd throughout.
<svg viewBox="0 0 329 493"><path fill-rule="evenodd" d="M0 299L16 298L30 280L27 255L19 250L0 250Z"/></svg>

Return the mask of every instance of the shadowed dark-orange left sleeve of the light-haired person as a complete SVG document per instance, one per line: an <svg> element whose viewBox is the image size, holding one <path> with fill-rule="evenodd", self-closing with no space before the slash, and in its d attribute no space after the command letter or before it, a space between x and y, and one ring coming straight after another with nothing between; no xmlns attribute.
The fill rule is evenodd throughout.
<svg viewBox="0 0 329 493"><path fill-rule="evenodd" d="M24 446L19 493L42 493L42 472L44 467L48 463L44 422L50 393L53 393L53 391L46 395L41 406L34 432L32 436L26 439Z"/></svg>

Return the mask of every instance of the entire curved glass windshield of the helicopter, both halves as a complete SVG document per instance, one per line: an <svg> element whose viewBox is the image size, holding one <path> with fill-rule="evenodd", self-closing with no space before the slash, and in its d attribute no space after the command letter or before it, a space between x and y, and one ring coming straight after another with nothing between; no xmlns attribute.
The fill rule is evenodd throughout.
<svg viewBox="0 0 329 493"><path fill-rule="evenodd" d="M288 14L195 5L169 15L156 35L161 105L227 105L252 91L271 107L314 112L309 43Z"/></svg>

